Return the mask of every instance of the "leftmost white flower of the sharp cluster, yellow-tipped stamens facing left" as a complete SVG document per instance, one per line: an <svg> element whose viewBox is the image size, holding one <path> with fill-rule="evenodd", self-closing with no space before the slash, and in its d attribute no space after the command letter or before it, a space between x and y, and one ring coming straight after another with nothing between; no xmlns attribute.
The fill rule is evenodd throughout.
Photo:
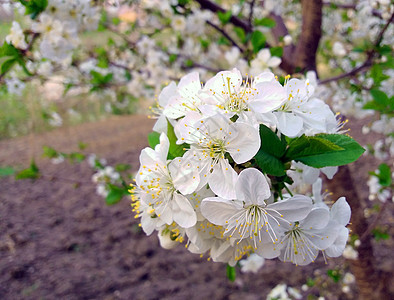
<svg viewBox="0 0 394 300"><path fill-rule="evenodd" d="M171 161L167 168L169 146L167 136L162 133L155 150L141 151L136 183L141 201L152 206L157 217L168 225L174 221L188 228L196 224L197 216L184 195L195 191L199 177L196 169L179 158Z"/></svg>

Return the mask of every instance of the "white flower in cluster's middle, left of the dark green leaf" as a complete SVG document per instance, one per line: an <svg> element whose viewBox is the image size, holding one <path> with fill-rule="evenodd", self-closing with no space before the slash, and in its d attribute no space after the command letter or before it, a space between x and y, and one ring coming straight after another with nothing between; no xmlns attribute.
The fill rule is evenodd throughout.
<svg viewBox="0 0 394 300"><path fill-rule="evenodd" d="M191 144L184 155L186 161L197 165L201 182L224 198L235 196L236 172L225 155L228 153L242 164L254 157L260 148L259 131L249 124L233 123L222 114L200 119L193 126L180 126L179 143Z"/></svg>

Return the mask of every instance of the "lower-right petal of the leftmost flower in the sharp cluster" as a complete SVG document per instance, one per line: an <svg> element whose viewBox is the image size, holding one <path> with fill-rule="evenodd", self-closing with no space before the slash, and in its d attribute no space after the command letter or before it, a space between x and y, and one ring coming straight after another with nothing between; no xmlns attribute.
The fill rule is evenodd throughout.
<svg viewBox="0 0 394 300"><path fill-rule="evenodd" d="M172 201L174 221L183 228L189 228L196 225L197 215L189 200L181 194L174 193Z"/></svg>

